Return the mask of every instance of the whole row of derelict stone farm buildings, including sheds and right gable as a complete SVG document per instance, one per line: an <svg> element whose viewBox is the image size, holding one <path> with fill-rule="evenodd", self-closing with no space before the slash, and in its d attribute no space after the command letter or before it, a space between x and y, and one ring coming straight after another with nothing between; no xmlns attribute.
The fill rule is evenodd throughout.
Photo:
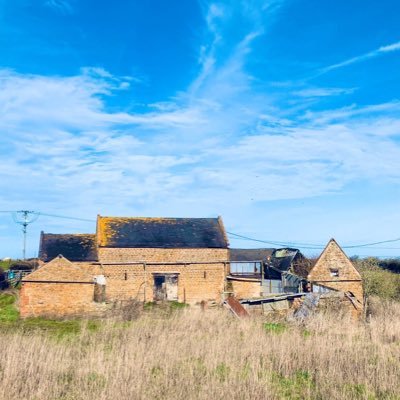
<svg viewBox="0 0 400 400"><path fill-rule="evenodd" d="M131 299L221 303L227 295L267 310L309 291L341 293L357 312L363 303L361 277L335 240L311 268L293 248L229 249L221 218L98 216L95 234L42 233L39 257L41 267L22 280L23 317L96 314Z"/></svg>

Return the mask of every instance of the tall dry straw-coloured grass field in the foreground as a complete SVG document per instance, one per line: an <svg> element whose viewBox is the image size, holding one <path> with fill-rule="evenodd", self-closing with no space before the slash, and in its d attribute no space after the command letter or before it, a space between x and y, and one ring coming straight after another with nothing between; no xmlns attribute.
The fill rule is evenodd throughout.
<svg viewBox="0 0 400 400"><path fill-rule="evenodd" d="M400 305L388 304L358 325L185 309L62 339L7 331L0 399L400 399Z"/></svg>

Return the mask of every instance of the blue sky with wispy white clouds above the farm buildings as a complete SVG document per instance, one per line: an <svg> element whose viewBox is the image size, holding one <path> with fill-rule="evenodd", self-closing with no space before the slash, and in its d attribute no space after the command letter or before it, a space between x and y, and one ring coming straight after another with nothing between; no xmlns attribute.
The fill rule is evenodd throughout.
<svg viewBox="0 0 400 400"><path fill-rule="evenodd" d="M216 217L231 247L334 237L397 257L396 0L0 0L0 258L8 211ZM81 221L86 219L88 221ZM240 238L260 240L259 242Z"/></svg>

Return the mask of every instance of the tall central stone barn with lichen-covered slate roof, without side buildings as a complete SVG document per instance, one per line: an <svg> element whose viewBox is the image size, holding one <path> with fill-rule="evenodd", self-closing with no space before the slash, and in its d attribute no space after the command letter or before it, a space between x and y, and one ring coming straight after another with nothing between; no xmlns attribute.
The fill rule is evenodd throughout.
<svg viewBox="0 0 400 400"><path fill-rule="evenodd" d="M107 298L221 301L228 240L221 218L97 219Z"/></svg>

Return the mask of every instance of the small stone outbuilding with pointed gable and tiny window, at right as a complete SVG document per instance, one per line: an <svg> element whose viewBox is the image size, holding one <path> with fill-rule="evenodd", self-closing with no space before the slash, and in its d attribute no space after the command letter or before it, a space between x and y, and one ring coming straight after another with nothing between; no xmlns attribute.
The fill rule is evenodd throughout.
<svg viewBox="0 0 400 400"><path fill-rule="evenodd" d="M350 293L363 304L363 283L360 273L335 239L331 239L308 274L313 292L329 289Z"/></svg>

